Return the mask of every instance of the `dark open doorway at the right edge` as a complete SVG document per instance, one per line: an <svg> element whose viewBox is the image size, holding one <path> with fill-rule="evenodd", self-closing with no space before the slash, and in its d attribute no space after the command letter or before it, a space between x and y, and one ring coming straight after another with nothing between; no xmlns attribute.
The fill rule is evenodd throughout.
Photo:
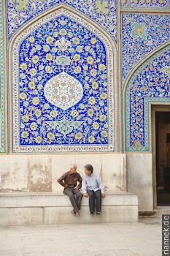
<svg viewBox="0 0 170 256"><path fill-rule="evenodd" d="M170 206L170 112L155 112L157 206Z"/></svg>

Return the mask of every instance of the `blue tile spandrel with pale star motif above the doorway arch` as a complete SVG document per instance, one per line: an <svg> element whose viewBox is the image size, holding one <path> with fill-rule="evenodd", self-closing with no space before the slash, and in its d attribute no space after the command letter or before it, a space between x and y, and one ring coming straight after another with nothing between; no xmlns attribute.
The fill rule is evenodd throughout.
<svg viewBox="0 0 170 256"><path fill-rule="evenodd" d="M123 81L148 53L170 39L170 15L123 13Z"/></svg>

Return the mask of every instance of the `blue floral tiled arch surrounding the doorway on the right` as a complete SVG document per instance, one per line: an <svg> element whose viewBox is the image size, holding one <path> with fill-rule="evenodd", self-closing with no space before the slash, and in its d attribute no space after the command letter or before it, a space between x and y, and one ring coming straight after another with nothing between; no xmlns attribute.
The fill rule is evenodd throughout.
<svg viewBox="0 0 170 256"><path fill-rule="evenodd" d="M151 105L170 105L170 45L157 49L125 87L125 151L151 151Z"/></svg>

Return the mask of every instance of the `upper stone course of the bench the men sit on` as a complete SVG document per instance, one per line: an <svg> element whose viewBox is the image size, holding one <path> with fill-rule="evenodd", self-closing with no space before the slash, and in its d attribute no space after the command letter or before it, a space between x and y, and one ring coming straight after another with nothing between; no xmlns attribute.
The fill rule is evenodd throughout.
<svg viewBox="0 0 170 256"><path fill-rule="evenodd" d="M58 193L1 193L0 208L5 207L59 207L70 206L69 197ZM138 205L136 195L129 192L107 192L103 206ZM82 197L82 206L88 206L88 197Z"/></svg>

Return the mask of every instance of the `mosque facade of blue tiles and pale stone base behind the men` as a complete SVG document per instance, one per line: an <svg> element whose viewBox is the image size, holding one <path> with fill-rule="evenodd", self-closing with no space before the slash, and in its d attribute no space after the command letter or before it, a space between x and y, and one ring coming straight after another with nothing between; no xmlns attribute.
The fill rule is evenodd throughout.
<svg viewBox="0 0 170 256"><path fill-rule="evenodd" d="M90 163L107 192L157 208L169 15L169 0L1 1L1 194L61 192L69 165Z"/></svg>

